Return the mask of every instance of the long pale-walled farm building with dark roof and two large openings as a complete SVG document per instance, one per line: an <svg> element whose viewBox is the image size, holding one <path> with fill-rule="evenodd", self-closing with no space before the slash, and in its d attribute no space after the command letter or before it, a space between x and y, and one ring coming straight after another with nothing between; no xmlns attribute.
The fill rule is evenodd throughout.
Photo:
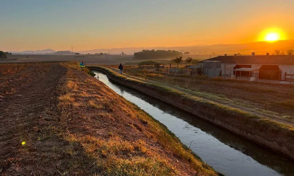
<svg viewBox="0 0 294 176"><path fill-rule="evenodd" d="M218 56L199 62L220 61L221 76L294 81L294 55Z"/></svg>

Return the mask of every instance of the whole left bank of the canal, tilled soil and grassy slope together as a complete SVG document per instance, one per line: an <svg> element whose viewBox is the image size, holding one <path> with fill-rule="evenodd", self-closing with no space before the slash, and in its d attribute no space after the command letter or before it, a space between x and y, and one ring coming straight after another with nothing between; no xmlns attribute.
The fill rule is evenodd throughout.
<svg viewBox="0 0 294 176"><path fill-rule="evenodd" d="M77 62L2 66L1 175L219 175Z"/></svg>

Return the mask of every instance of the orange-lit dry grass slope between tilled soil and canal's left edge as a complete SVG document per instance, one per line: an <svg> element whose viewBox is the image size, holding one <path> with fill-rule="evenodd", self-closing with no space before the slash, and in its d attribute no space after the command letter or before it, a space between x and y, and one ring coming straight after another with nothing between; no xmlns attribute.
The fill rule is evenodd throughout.
<svg viewBox="0 0 294 176"><path fill-rule="evenodd" d="M69 169L102 175L217 175L171 132L77 63L68 68L59 97L60 133L85 156L66 151ZM196 174L197 173L197 174Z"/></svg>

